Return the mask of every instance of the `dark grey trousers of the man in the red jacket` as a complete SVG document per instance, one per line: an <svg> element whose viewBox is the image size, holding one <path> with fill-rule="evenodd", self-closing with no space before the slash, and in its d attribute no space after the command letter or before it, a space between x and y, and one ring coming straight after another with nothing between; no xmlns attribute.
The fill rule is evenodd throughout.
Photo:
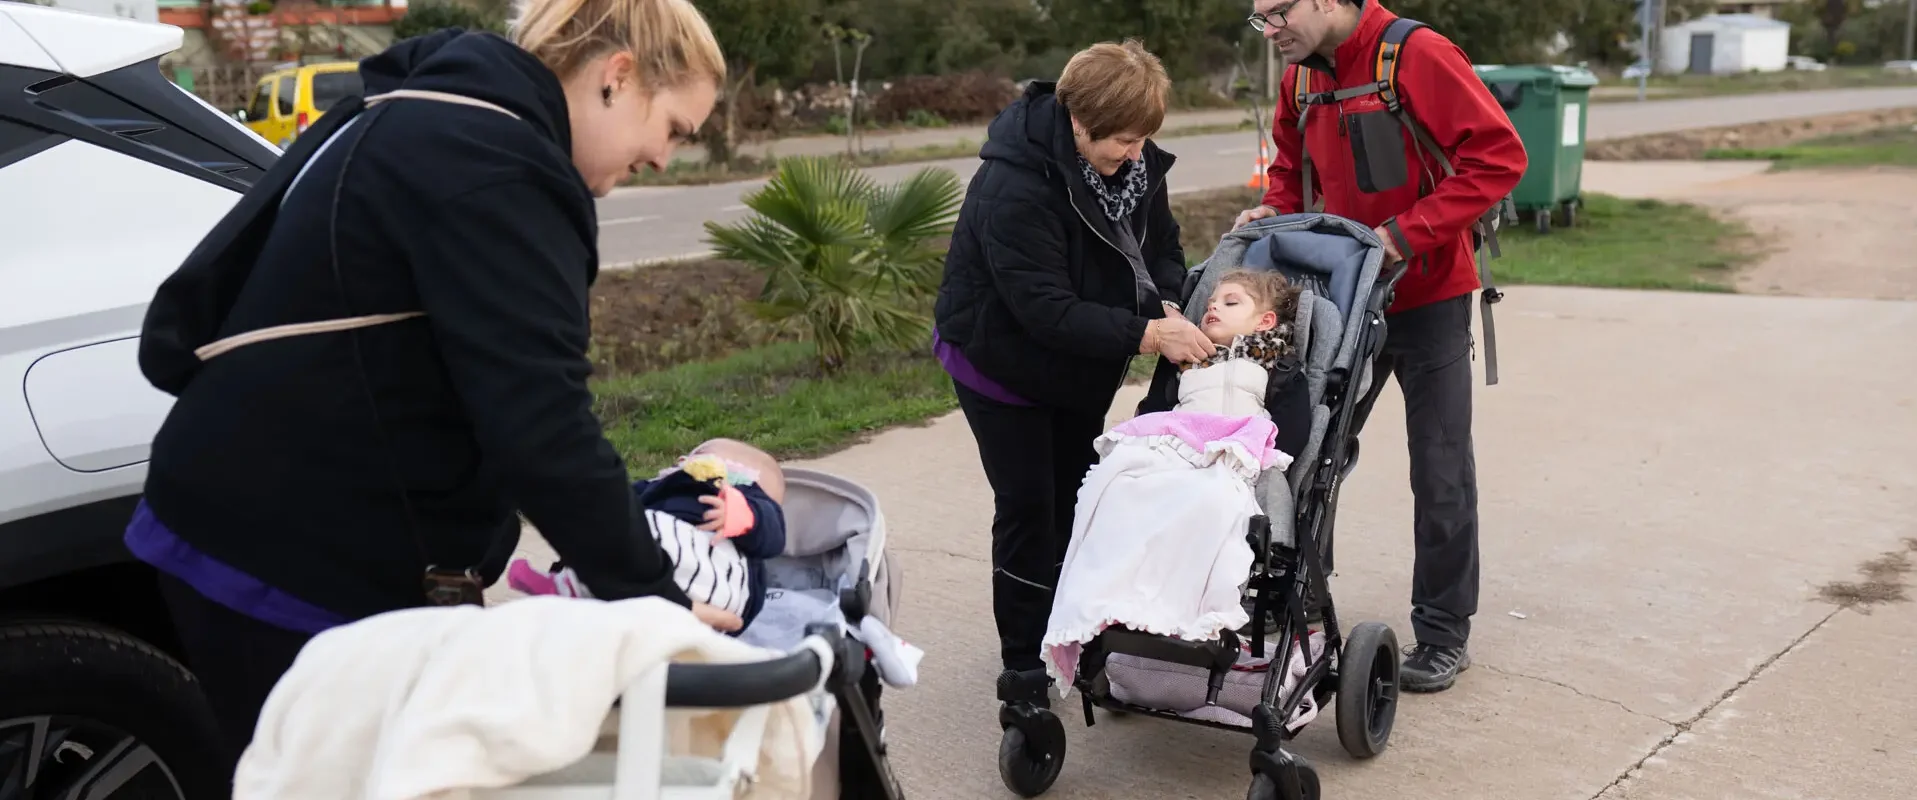
<svg viewBox="0 0 1917 800"><path fill-rule="evenodd" d="M1478 614L1478 462L1470 441L1472 295L1386 315L1367 401L1397 376L1411 455L1411 631L1463 647ZM1369 403L1365 405L1371 407Z"/></svg>

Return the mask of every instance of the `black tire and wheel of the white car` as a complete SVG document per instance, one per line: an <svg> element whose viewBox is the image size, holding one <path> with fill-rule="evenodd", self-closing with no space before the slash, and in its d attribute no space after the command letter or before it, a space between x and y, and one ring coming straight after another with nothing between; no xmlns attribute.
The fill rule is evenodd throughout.
<svg viewBox="0 0 1917 800"><path fill-rule="evenodd" d="M82 622L0 622L0 777L36 773L27 796L88 777L125 779L125 794L84 796L230 796L199 683L151 645ZM25 760L38 769L13 771Z"/></svg>

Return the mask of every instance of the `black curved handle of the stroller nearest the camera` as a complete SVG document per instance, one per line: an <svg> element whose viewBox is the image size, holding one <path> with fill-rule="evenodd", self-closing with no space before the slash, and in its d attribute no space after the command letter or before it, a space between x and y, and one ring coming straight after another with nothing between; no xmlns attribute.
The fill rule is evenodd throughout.
<svg viewBox="0 0 1917 800"><path fill-rule="evenodd" d="M857 652L849 652L857 647ZM792 652L744 664L669 664L667 708L746 708L782 702L826 685L842 666L863 666L863 645L838 625L807 625Z"/></svg>

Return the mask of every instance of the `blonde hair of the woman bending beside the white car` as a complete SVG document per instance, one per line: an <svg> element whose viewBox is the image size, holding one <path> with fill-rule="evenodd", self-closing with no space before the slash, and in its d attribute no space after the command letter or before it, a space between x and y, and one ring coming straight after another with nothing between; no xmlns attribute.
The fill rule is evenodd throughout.
<svg viewBox="0 0 1917 800"><path fill-rule="evenodd" d="M562 81L619 50L646 88L725 81L725 54L690 0L520 0L512 40Z"/></svg>

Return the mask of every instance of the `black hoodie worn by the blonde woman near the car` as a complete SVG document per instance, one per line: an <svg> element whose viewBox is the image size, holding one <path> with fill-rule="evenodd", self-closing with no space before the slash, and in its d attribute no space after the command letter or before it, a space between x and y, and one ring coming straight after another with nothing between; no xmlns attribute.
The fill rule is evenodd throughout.
<svg viewBox="0 0 1917 800"><path fill-rule="evenodd" d="M140 340L148 380L178 397L153 439L153 514L349 618L422 604L427 564L497 581L516 512L594 595L688 604L592 414L598 221L558 77L460 31L399 42L360 75L368 96L452 92L520 119L349 98L215 226ZM404 311L426 317L194 357L266 326Z"/></svg>

